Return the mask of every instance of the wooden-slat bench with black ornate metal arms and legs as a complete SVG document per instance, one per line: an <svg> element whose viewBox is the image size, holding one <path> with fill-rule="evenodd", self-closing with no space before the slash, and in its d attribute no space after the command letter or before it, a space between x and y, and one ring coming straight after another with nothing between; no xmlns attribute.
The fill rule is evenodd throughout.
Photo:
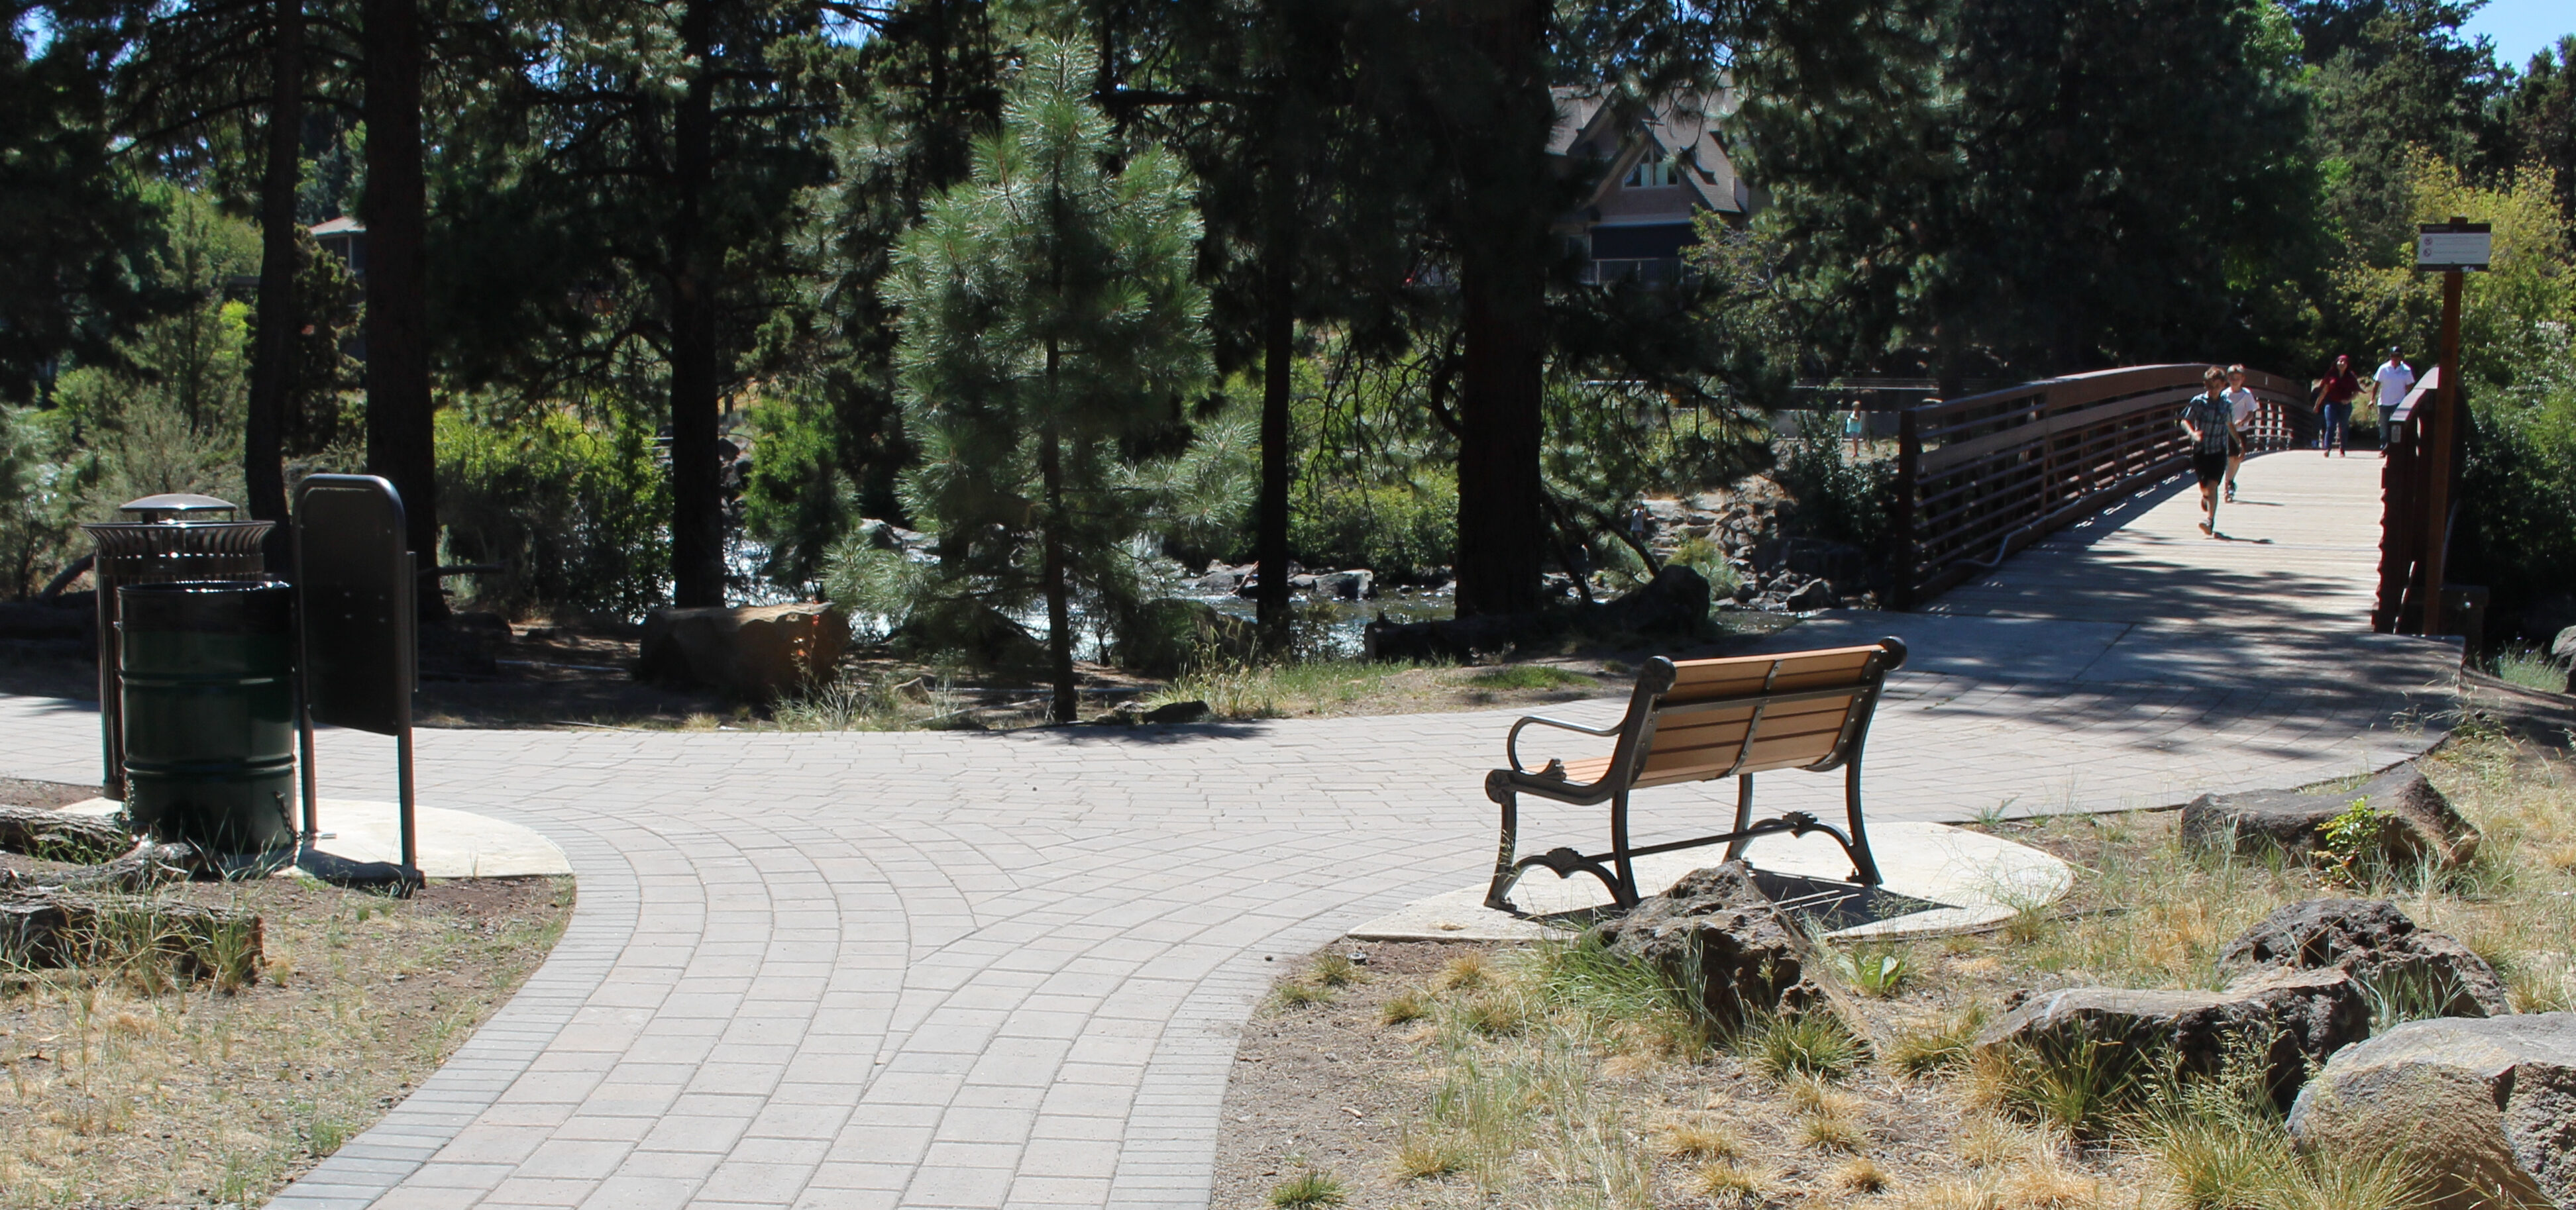
<svg viewBox="0 0 2576 1210"><path fill-rule="evenodd" d="M1852 880L1878 886L1870 837L1860 824L1860 747L1878 711L1888 672L1904 667L1906 644L1880 638L1870 646L1785 651L1734 659L1651 659L1636 677L1628 716L1618 726L1579 726L1556 718L1522 718L1504 739L1510 770L1484 777L1484 793L1502 808L1502 852L1494 857L1494 886L1484 906L1517 911L1512 883L1530 865L1546 865L1558 878L1589 873L1610 888L1620 906L1636 906L1636 857L1651 852L1726 844L1726 857L1741 857L1754 837L1824 832L1852 857ZM1587 736L1615 736L1607 757L1548 759L1528 767L1520 759L1520 731L1556 726ZM1754 775L1770 770L1844 770L1850 832L1819 824L1806 811L1788 811L1754 824ZM1736 826L1716 837L1628 844L1628 796L1656 785L1736 777ZM1548 850L1517 857L1520 796L1556 803L1610 803L1610 852ZM1607 865L1602 865L1607 862Z"/></svg>

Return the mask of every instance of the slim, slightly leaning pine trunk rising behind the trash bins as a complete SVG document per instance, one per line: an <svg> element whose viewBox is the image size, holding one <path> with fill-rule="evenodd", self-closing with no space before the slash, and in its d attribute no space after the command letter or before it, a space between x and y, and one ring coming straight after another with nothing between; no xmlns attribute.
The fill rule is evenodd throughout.
<svg viewBox="0 0 2576 1210"><path fill-rule="evenodd" d="M268 62L268 165L260 172L260 314L250 350L250 414L242 425L242 487L250 515L286 520L286 404L294 394L299 144L304 136L304 0L278 0ZM286 566L286 525L268 535L268 566Z"/></svg>

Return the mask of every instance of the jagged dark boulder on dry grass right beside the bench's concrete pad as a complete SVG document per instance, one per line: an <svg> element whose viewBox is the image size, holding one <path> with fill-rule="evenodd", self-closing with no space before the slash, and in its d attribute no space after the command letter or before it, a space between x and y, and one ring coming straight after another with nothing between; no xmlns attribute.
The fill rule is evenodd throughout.
<svg viewBox="0 0 2576 1210"><path fill-rule="evenodd" d="M1613 955L1654 965L1690 989L1710 1019L1844 1009L1832 983L1811 976L1819 965L1806 929L1754 886L1744 862L1690 870L1625 917L1595 924L1592 935Z"/></svg>

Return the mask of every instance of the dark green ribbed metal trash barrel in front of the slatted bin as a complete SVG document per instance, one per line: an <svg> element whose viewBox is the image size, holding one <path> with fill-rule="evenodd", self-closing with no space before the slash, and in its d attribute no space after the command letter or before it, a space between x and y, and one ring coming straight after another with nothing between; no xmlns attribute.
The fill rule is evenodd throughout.
<svg viewBox="0 0 2576 1210"><path fill-rule="evenodd" d="M294 590L126 584L116 610L134 826L201 852L294 844Z"/></svg>

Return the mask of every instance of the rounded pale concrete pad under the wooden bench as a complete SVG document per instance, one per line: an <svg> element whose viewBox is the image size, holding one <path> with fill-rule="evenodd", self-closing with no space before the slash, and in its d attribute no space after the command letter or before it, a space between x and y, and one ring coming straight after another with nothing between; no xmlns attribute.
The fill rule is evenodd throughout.
<svg viewBox="0 0 2576 1210"><path fill-rule="evenodd" d="M1659 893L1690 870L1718 865L1723 847L1656 852L1636 860L1641 893ZM1834 940L1906 940L1991 929L2025 906L2056 904L2074 888L2066 862L1984 832L1950 824L1870 824L1870 855L1878 857L1883 891L1924 901L1922 911L1832 929ZM1850 878L1852 862L1824 834L1762 837L1747 852L1757 870L1795 878ZM1533 865L1512 888L1512 901L1528 917L1484 906L1484 883L1445 891L1406 904L1358 929L1355 940L1455 940L1520 942L1564 937L1584 924L1587 909L1610 904L1610 888L1587 873L1556 878Z"/></svg>

